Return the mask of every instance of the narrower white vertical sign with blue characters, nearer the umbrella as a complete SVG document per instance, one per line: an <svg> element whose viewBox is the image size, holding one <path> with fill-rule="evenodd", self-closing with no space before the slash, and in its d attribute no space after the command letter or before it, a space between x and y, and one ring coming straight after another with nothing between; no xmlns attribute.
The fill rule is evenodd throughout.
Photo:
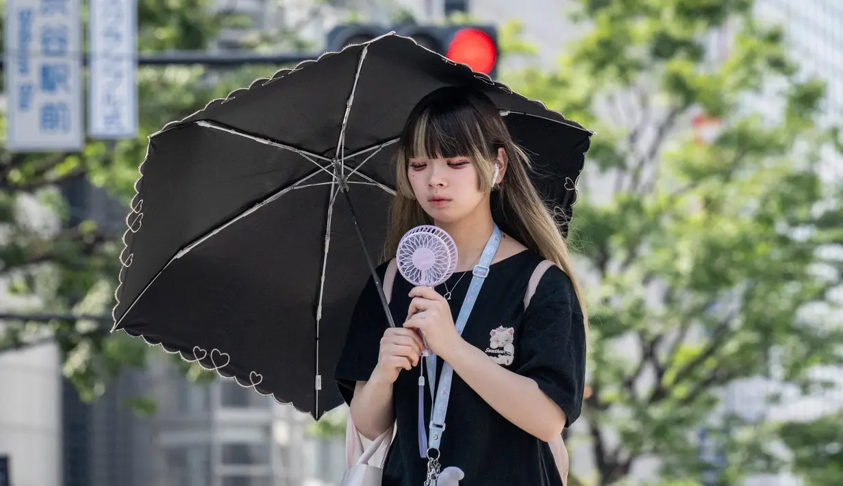
<svg viewBox="0 0 843 486"><path fill-rule="evenodd" d="M137 136L136 0L89 0L88 131L98 139Z"/></svg>

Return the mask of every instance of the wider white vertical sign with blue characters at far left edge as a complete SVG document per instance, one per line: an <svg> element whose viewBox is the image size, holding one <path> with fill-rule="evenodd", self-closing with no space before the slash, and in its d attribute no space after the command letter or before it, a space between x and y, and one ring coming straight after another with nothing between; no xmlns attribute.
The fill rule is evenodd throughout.
<svg viewBox="0 0 843 486"><path fill-rule="evenodd" d="M80 0L8 0L7 142L13 152L78 151L82 119Z"/></svg>

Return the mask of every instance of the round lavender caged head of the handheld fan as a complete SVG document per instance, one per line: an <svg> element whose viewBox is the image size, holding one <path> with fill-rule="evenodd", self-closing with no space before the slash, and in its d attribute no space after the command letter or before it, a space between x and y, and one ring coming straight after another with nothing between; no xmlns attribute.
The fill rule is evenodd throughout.
<svg viewBox="0 0 843 486"><path fill-rule="evenodd" d="M431 225L406 232L395 254L398 271L414 286L435 287L457 268L457 243L448 232Z"/></svg>

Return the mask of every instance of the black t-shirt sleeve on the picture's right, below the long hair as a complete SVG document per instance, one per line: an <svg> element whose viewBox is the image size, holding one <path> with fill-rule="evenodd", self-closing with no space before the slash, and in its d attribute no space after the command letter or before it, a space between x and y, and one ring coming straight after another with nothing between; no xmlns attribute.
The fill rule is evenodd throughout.
<svg viewBox="0 0 843 486"><path fill-rule="evenodd" d="M583 312L565 272L550 267L542 276L519 334L516 372L538 383L571 426L583 409L586 339Z"/></svg>

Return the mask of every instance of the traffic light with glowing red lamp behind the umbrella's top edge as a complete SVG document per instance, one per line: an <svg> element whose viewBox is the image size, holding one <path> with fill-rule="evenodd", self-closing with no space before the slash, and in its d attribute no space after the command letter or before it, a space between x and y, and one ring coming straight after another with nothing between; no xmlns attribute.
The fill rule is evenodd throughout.
<svg viewBox="0 0 843 486"><path fill-rule="evenodd" d="M463 62L476 72L495 77L498 46L497 29L491 25L400 25L341 24L327 35L325 50L341 51L350 44L360 44L395 31L412 37L419 45L438 52L451 61Z"/></svg>

